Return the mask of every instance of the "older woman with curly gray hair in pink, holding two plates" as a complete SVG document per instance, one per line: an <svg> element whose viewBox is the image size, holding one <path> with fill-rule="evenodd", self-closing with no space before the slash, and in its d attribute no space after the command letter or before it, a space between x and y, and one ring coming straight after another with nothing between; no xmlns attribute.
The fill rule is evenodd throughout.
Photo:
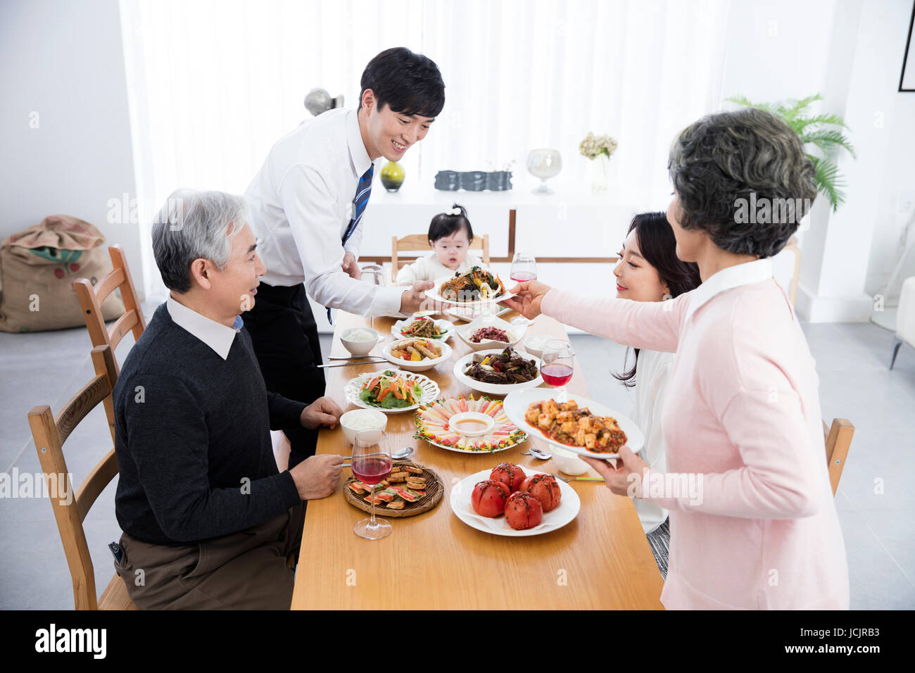
<svg viewBox="0 0 915 673"><path fill-rule="evenodd" d="M577 297L533 281L506 301L613 341L675 352L662 411L666 472L628 447L608 487L670 510L667 608L844 609L845 545L824 460L818 379L772 278L815 196L788 125L711 114L674 140L667 219L703 283L663 302Z"/></svg>

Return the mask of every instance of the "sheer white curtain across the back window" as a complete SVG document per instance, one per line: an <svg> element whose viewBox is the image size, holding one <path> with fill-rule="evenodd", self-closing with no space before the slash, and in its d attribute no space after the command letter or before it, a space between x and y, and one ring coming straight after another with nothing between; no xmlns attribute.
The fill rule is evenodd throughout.
<svg viewBox="0 0 915 673"><path fill-rule="evenodd" d="M558 180L587 190L578 143L594 131L619 142L610 189L662 209L673 136L721 106L727 0L121 0L121 11L147 211L178 187L245 190L310 116L306 92L355 105L365 64L393 46L429 56L445 80L445 109L404 158L408 179L429 185L446 168L514 161L519 175L532 148L553 147ZM150 293L160 286L145 267Z"/></svg>

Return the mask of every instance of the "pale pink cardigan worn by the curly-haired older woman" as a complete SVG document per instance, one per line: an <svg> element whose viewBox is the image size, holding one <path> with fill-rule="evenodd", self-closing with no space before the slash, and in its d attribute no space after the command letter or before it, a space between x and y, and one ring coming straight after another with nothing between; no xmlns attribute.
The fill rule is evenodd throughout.
<svg viewBox="0 0 915 673"><path fill-rule="evenodd" d="M845 543L826 469L813 357L770 260L663 302L550 290L544 314L615 342L676 352L662 432L670 510L668 609L847 609ZM638 385L638 382L637 384Z"/></svg>

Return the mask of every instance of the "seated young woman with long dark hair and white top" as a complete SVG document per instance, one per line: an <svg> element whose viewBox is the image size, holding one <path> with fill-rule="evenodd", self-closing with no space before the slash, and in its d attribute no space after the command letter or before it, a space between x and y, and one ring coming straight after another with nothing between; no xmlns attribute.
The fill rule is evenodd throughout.
<svg viewBox="0 0 915 673"><path fill-rule="evenodd" d="M689 292L702 283L699 267L677 257L667 215L663 212L640 212L630 223L626 240L619 250L619 263L613 269L617 278L617 299L666 301ZM626 350L624 366L629 362ZM645 435L645 446L639 451L643 461L654 470L664 472L664 440L661 412L667 391L667 380L673 366L673 353L635 350L635 362L622 374L613 374L623 385L635 388L635 404L630 416ZM667 576L670 527L667 510L648 500L633 501L641 527L648 537L661 574Z"/></svg>

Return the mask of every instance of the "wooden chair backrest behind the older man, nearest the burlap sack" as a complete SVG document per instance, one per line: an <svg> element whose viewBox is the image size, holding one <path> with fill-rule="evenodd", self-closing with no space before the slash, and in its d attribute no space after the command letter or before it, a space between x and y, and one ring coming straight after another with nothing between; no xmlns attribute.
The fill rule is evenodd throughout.
<svg viewBox="0 0 915 673"><path fill-rule="evenodd" d="M86 320L86 328L93 346L111 346L112 351L124 338L127 331L134 331L134 339L139 339L146 329L143 318L143 309L136 298L134 279L127 266L127 257L120 245L110 245L108 255L112 258L113 271L103 277L95 286L85 278L80 278L74 283L76 295L80 298L82 318ZM115 320L111 330L105 328L102 316L102 301L107 299L115 289L121 290L121 299L124 301L124 315ZM115 372L117 362L114 363Z"/></svg>

